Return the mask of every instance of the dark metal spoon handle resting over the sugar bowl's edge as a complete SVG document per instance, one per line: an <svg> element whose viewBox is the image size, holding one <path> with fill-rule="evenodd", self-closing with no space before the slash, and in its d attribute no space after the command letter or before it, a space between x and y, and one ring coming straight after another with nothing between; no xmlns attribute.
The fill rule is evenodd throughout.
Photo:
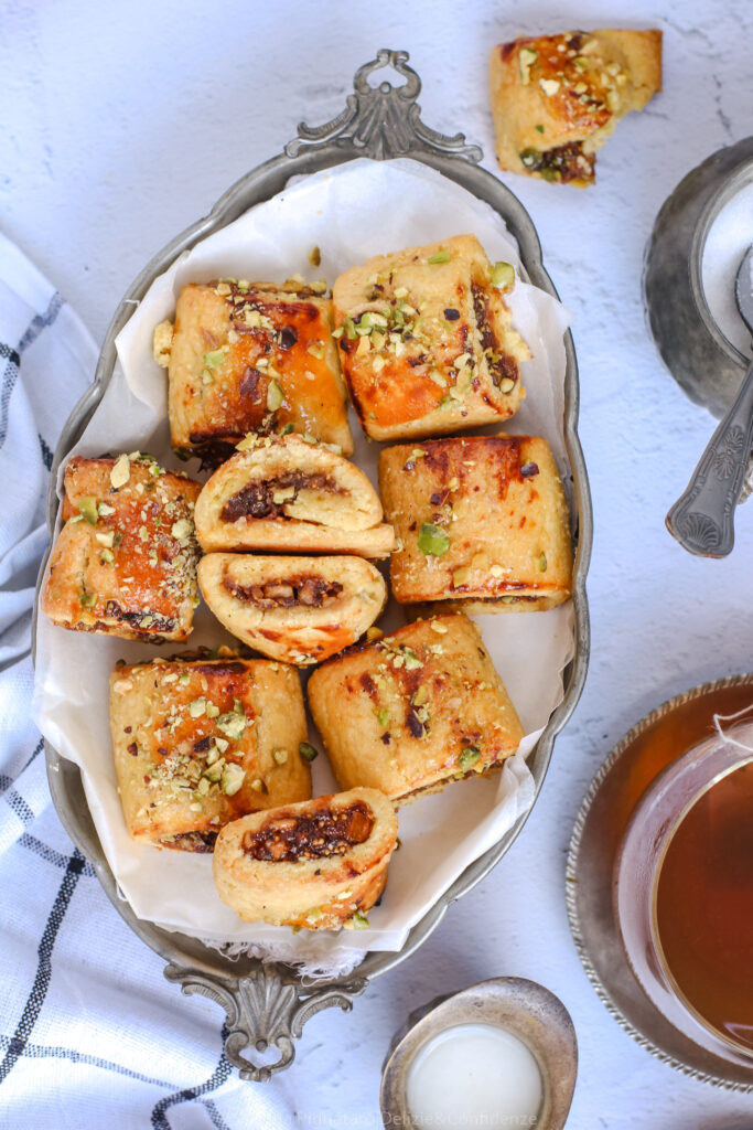
<svg viewBox="0 0 753 1130"><path fill-rule="evenodd" d="M752 442L753 362L688 487L665 519L672 537L689 553L726 557L732 551L735 506L743 489Z"/></svg>

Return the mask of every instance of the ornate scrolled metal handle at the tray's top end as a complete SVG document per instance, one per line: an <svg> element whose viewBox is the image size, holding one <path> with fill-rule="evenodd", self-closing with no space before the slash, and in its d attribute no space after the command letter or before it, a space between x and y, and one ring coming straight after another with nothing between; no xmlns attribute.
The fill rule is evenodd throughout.
<svg viewBox="0 0 753 1130"><path fill-rule="evenodd" d="M408 51L377 51L376 59L356 71L354 94L348 95L342 113L324 125L310 127L301 122L298 137L284 148L288 157L334 142L341 147L352 146L360 156L375 160L408 156L415 149L481 160L481 147L466 145L463 133L450 138L423 124L421 107L415 101L421 79L408 66L409 58ZM385 68L392 68L405 81L393 86L383 80L371 86L369 76Z"/></svg>

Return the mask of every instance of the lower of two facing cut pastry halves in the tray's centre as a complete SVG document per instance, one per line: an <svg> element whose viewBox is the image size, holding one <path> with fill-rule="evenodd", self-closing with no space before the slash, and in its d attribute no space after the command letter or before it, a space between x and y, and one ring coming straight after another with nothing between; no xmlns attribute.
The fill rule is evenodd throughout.
<svg viewBox="0 0 753 1130"><path fill-rule="evenodd" d="M199 584L233 635L299 667L356 643L387 600L382 574L362 557L208 554Z"/></svg>

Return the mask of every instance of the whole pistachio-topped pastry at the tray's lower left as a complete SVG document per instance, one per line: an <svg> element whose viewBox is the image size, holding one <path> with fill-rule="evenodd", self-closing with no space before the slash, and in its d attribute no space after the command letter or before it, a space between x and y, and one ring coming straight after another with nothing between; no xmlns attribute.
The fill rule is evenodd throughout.
<svg viewBox="0 0 753 1130"><path fill-rule="evenodd" d="M312 794L295 668L154 660L110 681L115 771L134 840L211 851L222 825Z"/></svg>

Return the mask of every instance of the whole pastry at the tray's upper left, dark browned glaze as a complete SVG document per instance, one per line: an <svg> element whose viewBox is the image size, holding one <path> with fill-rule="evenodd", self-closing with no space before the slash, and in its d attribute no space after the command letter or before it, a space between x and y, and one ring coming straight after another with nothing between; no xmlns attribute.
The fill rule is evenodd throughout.
<svg viewBox="0 0 753 1130"><path fill-rule="evenodd" d="M353 450L324 284L221 279L183 288L155 330L173 446L231 447L247 433L310 433Z"/></svg>

